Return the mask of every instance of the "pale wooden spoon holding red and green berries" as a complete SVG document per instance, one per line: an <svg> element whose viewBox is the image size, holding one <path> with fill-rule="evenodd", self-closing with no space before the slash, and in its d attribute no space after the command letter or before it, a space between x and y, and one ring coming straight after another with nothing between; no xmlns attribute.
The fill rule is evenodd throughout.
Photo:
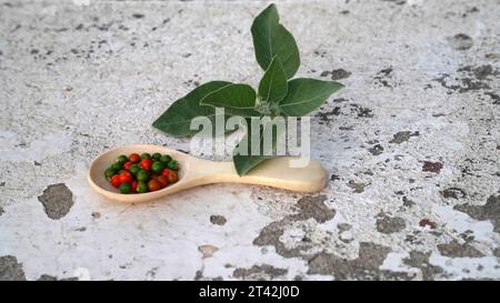
<svg viewBox="0 0 500 303"><path fill-rule="evenodd" d="M169 154L179 162L179 181L167 188L148 193L121 194L109 184L104 171L120 154L130 153ZM252 169L248 174L239 176L232 162L214 162L201 160L183 152L157 145L126 145L99 155L90 165L89 183L100 194L120 202L144 202L178 191L203 184L232 182L269 185L299 192L316 192L324 188L327 174L318 161L311 160L304 168L290 168L290 156L267 160Z"/></svg>

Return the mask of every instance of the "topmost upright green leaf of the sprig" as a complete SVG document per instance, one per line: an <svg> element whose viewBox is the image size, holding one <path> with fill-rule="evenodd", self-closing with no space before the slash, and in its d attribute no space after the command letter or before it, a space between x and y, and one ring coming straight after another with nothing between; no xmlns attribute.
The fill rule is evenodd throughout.
<svg viewBox="0 0 500 303"><path fill-rule="evenodd" d="M279 23L274 4L270 4L253 20L251 32L259 65L267 70L276 55L283 64L287 79L292 78L300 65L299 49L293 36Z"/></svg>

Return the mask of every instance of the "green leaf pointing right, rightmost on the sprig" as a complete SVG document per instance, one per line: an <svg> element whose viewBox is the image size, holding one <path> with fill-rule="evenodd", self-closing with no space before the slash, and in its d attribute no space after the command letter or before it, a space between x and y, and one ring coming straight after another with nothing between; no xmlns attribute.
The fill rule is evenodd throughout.
<svg viewBox="0 0 500 303"><path fill-rule="evenodd" d="M298 78L288 82L288 94L280 102L282 113L302 117L318 109L332 93L343 88L339 82Z"/></svg>

